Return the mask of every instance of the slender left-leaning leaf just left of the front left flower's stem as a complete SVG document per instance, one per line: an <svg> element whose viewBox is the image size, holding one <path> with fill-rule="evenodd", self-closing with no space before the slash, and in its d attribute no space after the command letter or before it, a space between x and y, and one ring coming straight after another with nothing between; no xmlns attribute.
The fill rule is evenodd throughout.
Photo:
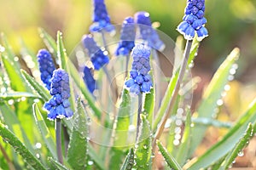
<svg viewBox="0 0 256 170"><path fill-rule="evenodd" d="M32 108L33 108L33 116L38 125L38 129L39 129L40 133L42 134L44 143L46 144L47 148L49 149L50 154L55 159L57 159L58 157L57 157L57 151L56 151L56 145L55 145L54 139L52 138L51 134L49 133L49 129L46 126L46 124L44 122L44 118L38 109L38 105L33 104Z"/></svg>

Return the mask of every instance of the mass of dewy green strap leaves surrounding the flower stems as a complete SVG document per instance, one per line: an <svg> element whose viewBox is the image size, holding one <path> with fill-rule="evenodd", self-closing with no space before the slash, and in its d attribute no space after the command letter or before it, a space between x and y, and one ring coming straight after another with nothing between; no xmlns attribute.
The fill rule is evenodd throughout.
<svg viewBox="0 0 256 170"><path fill-rule="evenodd" d="M39 32L45 45L53 54L53 58L57 61L56 63L60 64L56 66L67 71L70 76L71 108L76 111L72 119L61 121L62 127L64 127L61 140L64 143L58 146L63 149L63 163L57 161L59 156L56 150L57 144L55 144L56 137L53 137L54 123L46 121L46 112L42 111L44 103L51 98L51 95L44 85L38 82L36 74L32 74L32 70L27 68L26 64L17 61L20 58L15 56L9 42L2 36L5 51L1 53L3 69L1 65L0 77L3 80L7 76L10 81L10 83L1 82L6 91L3 90L4 93L0 93L0 136L3 139L3 142L0 141L0 149L3 152L0 161L3 169L12 169L13 167L61 170L152 169L156 166L156 161L166 161L168 166L166 168L177 170L208 167L227 169L255 133L256 99L247 107L247 111L241 118L232 125L230 122L218 120L215 116L215 109L218 108L217 101L222 98L224 87L229 82L230 69L238 59L238 48L235 48L220 65L207 86L200 105L193 114L186 107L187 105L183 105L185 103L184 94L177 95L175 104L171 108L172 114L168 117L164 127L164 133L160 134L163 144L160 143L160 140L156 140L156 144L154 144L157 139L155 132L159 129L162 117L166 116L167 111L170 111L170 101L179 77L179 65L174 65L172 77L164 77L170 81L164 96L157 95L160 97L160 108L158 109L159 105L155 103L158 100L155 97L156 89L152 88L150 93L142 94L143 111L140 111L137 106L137 100L140 101L140 99L132 96L126 88L121 89L124 81L115 77L116 75L112 75L111 71L114 69L110 67L114 67L115 63L111 64L110 62L109 65L105 65L104 69L111 73L109 77L113 79L113 82L121 82L119 83L121 90L118 89L118 91L122 91L122 94L119 95L117 102L108 101L108 104L112 102L113 104L104 108L101 104L102 100L99 99L104 94L101 94L101 90L90 94L84 84L80 68L77 69L80 65L73 63L70 58L72 56L67 55L61 31L57 32L56 41L44 29L39 29ZM102 37L103 34L104 32L94 36ZM24 42L21 44L26 48ZM200 43L194 40L192 48L189 49L189 60L185 65L188 71L189 64L193 63L199 45ZM182 48L183 44L180 40L177 46ZM81 53L84 52L79 51L78 54ZM34 62L37 61L35 55L27 48L26 54L30 54ZM109 48L108 54L110 61L113 61L115 58L112 55L112 48ZM176 55L176 57L183 58L181 55ZM176 64L177 61L179 60L176 60ZM38 70L38 67L33 69ZM158 75L154 73L153 68L151 75ZM104 74L106 74L104 71L95 71L95 77L98 82L102 82L102 86L105 86L102 81L102 78L106 76ZM189 82L186 78L188 77L184 77L183 82L192 83L193 85L189 87L189 90L192 90L195 87L194 79ZM77 97L79 98L76 99ZM21 99L26 100L20 101ZM183 107L187 109L184 110L182 116L178 116L178 109ZM112 108L113 111L108 112L109 108ZM138 114L140 114L139 120L137 120ZM139 122L139 125L135 122ZM34 124L36 126L33 126ZM225 127L228 132L205 153L193 159L195 150L202 144L202 139L210 126ZM97 127L100 127L100 130ZM179 139L175 137L177 131L180 131ZM102 139L101 144L106 145L96 144L99 142L94 140L97 137ZM174 144L174 140L177 140L178 143ZM155 156L156 146L164 160Z"/></svg>

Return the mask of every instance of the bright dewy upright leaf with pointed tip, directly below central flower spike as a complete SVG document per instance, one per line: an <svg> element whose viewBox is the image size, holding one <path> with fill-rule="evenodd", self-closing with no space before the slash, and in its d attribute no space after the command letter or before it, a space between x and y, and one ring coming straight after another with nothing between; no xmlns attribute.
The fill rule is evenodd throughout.
<svg viewBox="0 0 256 170"><path fill-rule="evenodd" d="M149 169L152 152L151 130L145 116L141 115L142 122L139 128L138 140L135 145L135 161L137 169Z"/></svg>

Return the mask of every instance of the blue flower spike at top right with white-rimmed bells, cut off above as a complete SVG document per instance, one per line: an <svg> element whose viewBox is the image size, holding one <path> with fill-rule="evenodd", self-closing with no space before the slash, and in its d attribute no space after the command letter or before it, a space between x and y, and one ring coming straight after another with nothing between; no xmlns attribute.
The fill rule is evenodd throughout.
<svg viewBox="0 0 256 170"><path fill-rule="evenodd" d="M177 26L177 31L187 40L193 40L195 33L198 41L208 37L207 28L204 26L207 19L204 14L205 0L188 0L183 21Z"/></svg>

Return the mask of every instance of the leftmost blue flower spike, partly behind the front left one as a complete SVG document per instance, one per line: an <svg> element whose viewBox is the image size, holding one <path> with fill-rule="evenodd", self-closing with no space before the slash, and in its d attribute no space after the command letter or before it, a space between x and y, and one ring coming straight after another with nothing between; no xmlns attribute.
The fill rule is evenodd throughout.
<svg viewBox="0 0 256 170"><path fill-rule="evenodd" d="M55 64L51 58L51 54L46 49L40 49L38 51L38 65L41 72L41 80L47 89L50 88L51 77L53 71L55 71Z"/></svg>

